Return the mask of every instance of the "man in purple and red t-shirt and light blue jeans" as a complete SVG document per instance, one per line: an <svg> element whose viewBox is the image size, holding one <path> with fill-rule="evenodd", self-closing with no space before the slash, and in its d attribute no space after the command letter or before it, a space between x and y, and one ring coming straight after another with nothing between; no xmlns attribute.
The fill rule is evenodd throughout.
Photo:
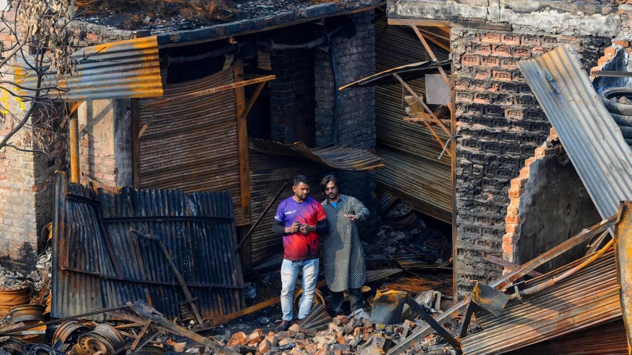
<svg viewBox="0 0 632 355"><path fill-rule="evenodd" d="M272 222L272 231L283 234L281 264L281 310L283 321L277 332L288 330L292 321L292 296L298 272L303 270L303 296L298 309L302 320L312 308L319 269L319 234L327 232L327 217L320 203L309 196L310 183L305 175L297 175L292 187L294 195L279 204Z"/></svg>

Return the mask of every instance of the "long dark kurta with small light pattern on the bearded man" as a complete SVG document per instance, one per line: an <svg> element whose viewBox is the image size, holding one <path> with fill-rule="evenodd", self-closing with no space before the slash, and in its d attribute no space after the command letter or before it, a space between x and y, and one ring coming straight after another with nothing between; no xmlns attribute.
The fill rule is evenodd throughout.
<svg viewBox="0 0 632 355"><path fill-rule="evenodd" d="M358 215L358 220L365 220L368 209L357 198L342 194L337 208L329 200L321 204L329 223L329 233L323 241L327 287L334 292L358 289L367 280L364 252L356 222L344 218L344 215Z"/></svg>

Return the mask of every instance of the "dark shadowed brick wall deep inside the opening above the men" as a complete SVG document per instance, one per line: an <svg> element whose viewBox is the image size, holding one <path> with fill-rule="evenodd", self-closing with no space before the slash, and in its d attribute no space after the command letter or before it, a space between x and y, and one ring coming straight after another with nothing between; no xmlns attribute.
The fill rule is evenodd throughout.
<svg viewBox="0 0 632 355"><path fill-rule="evenodd" d="M307 42L312 33L288 31L275 37L280 43ZM291 49L270 54L270 138L283 143L315 144L313 51Z"/></svg>

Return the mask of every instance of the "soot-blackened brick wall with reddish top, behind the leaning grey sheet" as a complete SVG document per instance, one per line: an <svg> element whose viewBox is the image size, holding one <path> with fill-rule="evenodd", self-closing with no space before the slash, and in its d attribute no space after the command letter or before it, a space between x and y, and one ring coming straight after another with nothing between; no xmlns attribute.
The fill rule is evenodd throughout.
<svg viewBox="0 0 632 355"><path fill-rule="evenodd" d="M484 256L502 256L511 179L549 135L550 123L518 69L518 61L573 44L587 67L609 40L550 33L453 28L458 133L456 153L455 277L459 296L470 280L489 282L502 268ZM516 198L518 196L515 196Z"/></svg>

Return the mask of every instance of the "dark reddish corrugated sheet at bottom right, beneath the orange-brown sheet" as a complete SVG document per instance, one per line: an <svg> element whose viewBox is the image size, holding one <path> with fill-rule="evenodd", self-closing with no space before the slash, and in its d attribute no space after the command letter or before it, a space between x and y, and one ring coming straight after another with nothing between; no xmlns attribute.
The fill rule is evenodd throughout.
<svg viewBox="0 0 632 355"><path fill-rule="evenodd" d="M515 355L628 355L628 341L623 322L616 320L511 353Z"/></svg>

